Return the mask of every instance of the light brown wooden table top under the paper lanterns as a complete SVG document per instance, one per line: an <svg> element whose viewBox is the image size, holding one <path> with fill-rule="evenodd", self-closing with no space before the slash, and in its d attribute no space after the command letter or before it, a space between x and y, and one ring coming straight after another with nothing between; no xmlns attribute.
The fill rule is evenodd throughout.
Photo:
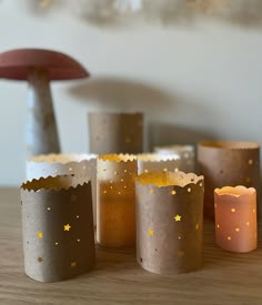
<svg viewBox="0 0 262 305"><path fill-rule="evenodd" d="M204 267L198 272L160 276L143 271L131 250L98 247L93 272L43 284L23 272L19 190L0 189L0 304L261 305L262 248L225 252L215 246L213 224L205 222Z"/></svg>

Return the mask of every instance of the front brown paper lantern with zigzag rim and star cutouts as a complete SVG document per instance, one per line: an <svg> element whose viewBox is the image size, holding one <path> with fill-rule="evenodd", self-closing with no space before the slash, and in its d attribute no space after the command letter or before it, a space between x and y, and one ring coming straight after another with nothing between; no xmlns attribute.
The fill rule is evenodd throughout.
<svg viewBox="0 0 262 305"><path fill-rule="evenodd" d="M91 183L72 176L41 177L21 186L26 274L57 282L94 264Z"/></svg>

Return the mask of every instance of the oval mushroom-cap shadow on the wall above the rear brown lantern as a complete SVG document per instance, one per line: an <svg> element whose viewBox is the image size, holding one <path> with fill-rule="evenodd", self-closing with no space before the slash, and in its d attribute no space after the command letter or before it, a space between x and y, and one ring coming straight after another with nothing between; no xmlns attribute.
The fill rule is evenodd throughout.
<svg viewBox="0 0 262 305"><path fill-rule="evenodd" d="M158 108L168 111L174 105L173 96L162 90L129 80L113 78L92 79L69 89L74 99L103 111L150 112Z"/></svg>

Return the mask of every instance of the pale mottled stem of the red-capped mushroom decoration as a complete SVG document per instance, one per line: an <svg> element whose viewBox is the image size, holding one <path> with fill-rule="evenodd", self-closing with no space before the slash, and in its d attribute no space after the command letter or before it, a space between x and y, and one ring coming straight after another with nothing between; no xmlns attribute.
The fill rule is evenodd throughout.
<svg viewBox="0 0 262 305"><path fill-rule="evenodd" d="M43 70L28 78L27 155L59 153L59 138L49 79Z"/></svg>

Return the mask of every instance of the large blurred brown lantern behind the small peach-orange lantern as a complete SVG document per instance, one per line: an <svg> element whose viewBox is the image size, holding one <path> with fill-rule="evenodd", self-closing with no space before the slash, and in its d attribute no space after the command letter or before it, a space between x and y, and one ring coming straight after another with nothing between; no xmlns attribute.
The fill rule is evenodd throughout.
<svg viewBox="0 0 262 305"><path fill-rule="evenodd" d="M254 142L202 142L199 173L205 177L204 213L214 217L214 190L224 185L260 187L260 145Z"/></svg>

